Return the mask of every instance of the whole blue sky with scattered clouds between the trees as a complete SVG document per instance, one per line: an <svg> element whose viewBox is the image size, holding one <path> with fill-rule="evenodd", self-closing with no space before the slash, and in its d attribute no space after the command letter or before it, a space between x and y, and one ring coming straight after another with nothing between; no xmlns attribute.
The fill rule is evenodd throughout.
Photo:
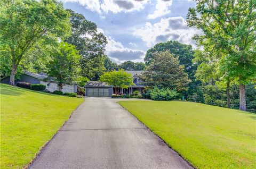
<svg viewBox="0 0 256 169"><path fill-rule="evenodd" d="M143 62L147 50L157 43L178 40L195 47L199 31L188 28L186 15L191 0L61 0L66 9L81 13L97 24L108 40L111 61Z"/></svg>

